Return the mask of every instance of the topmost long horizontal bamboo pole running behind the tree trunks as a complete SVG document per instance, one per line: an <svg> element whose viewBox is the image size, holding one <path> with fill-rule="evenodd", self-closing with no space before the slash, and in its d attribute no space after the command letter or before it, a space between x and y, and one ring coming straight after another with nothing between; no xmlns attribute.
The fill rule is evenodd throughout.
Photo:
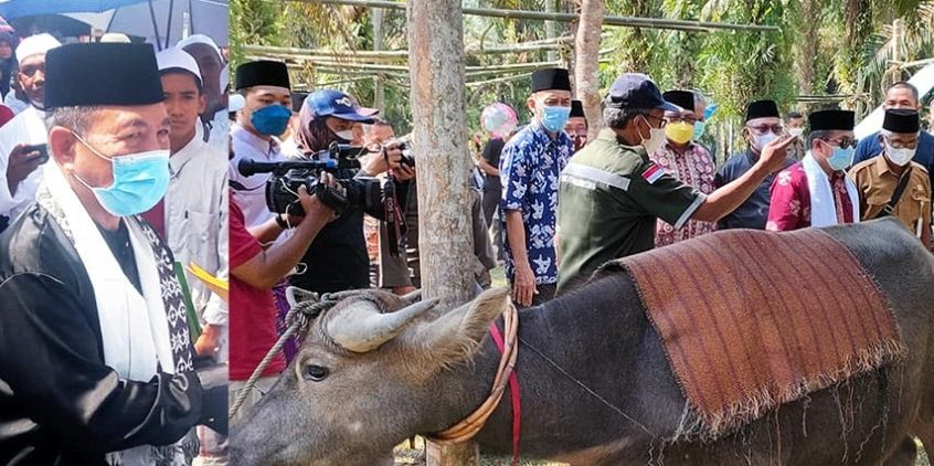
<svg viewBox="0 0 934 466"><path fill-rule="evenodd" d="M405 10L405 3L384 0L288 0L303 3L349 4L354 7ZM508 18L519 20L540 20L573 22L574 13L546 13L542 11L502 10L493 8L461 8L464 14L475 17ZM764 24L739 24L710 21L668 20L661 18L604 17L603 24L624 28L671 29L678 31L709 32L711 30L781 32L781 28Z"/></svg>

